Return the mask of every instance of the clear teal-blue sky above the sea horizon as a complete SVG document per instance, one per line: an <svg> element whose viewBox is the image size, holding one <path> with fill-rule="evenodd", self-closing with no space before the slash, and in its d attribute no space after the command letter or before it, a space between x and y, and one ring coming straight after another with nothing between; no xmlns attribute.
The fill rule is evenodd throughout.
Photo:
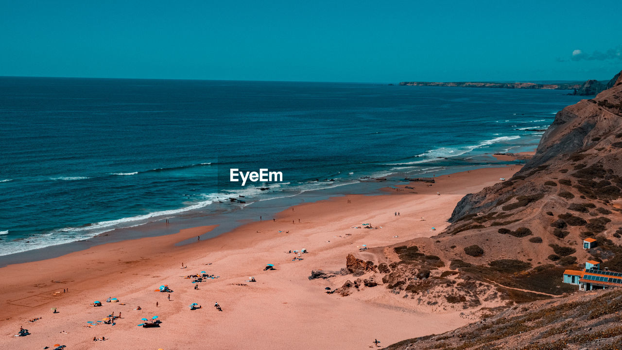
<svg viewBox="0 0 622 350"><path fill-rule="evenodd" d="M608 79L621 14L620 0L0 0L0 75Z"/></svg>

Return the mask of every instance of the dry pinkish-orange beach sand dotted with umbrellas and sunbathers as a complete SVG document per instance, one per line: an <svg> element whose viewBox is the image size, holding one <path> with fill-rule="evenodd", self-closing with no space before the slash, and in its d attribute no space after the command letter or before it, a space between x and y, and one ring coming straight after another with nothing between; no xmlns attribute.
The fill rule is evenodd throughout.
<svg viewBox="0 0 622 350"><path fill-rule="evenodd" d="M414 190L390 190L383 196L333 197L295 206L293 211L288 208L276 222L253 222L181 247L174 244L211 227L0 268L0 349L43 349L53 344L66 344L67 350L365 349L376 338L388 346L443 333L468 319L459 312L432 313L382 285L347 297L328 295L325 287L336 288L354 278L309 280L310 272L339 270L348 253L379 263L373 253L359 253L358 248L437 234L447 227L453 207L465 194L517 170L478 169L437 177L431 187L414 182ZM394 215L397 211L399 217ZM351 228L363 223L383 228ZM302 255L304 260L292 261L295 255L286 252L301 248L309 253ZM188 268L181 269L182 262ZM274 263L277 270L264 271L267 263ZM204 281L194 290L183 276L200 271L220 278ZM257 281L248 282L250 276ZM167 293L154 291L163 284L174 290L170 301ZM125 305L105 303L109 296ZM91 306L95 300L103 301L103 306ZM214 308L216 301L222 312ZM190 311L191 303L203 308ZM59 313L52 313L52 307ZM101 320L113 311L122 313L116 325L86 327L86 321ZM163 322L160 328L137 326L141 318L154 315ZM27 322L39 316L39 321ZM20 326L32 334L14 337ZM93 341L101 336L105 342Z"/></svg>

